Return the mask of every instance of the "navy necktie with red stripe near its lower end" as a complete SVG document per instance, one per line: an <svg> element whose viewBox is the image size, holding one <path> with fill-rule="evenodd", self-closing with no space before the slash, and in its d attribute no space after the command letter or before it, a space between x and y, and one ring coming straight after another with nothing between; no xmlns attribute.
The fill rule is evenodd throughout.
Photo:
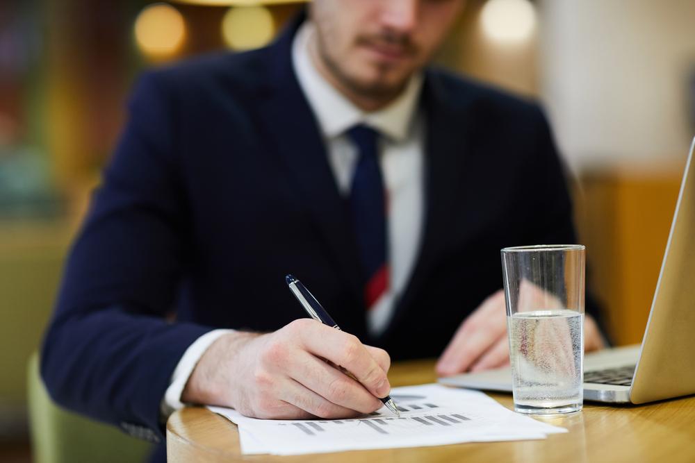
<svg viewBox="0 0 695 463"><path fill-rule="evenodd" d="M347 136L359 153L352 177L350 208L362 267L364 301L372 309L389 289L388 199L379 167L379 134L373 128L357 125L347 131Z"/></svg>

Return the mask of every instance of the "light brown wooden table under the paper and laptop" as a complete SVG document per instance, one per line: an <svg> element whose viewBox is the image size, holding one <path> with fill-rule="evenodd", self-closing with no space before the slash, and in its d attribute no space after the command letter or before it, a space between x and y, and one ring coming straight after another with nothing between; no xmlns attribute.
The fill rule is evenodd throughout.
<svg viewBox="0 0 695 463"><path fill-rule="evenodd" d="M434 382L434 360L394 364L391 385ZM512 396L491 394L512 408ZM695 462L695 397L650 405L584 404L578 414L546 419L568 428L536 441L393 448L293 457L241 455L236 425L188 407L167 422L168 461L178 462Z"/></svg>

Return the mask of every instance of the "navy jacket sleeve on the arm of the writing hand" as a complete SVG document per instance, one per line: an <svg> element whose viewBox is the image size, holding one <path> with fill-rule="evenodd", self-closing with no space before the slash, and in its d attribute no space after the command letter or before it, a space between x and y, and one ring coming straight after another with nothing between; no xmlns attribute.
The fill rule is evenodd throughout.
<svg viewBox="0 0 695 463"><path fill-rule="evenodd" d="M129 121L70 251L41 355L56 402L155 441L172 371L211 329L166 319L190 246L177 108L164 83L153 73L136 86Z"/></svg>

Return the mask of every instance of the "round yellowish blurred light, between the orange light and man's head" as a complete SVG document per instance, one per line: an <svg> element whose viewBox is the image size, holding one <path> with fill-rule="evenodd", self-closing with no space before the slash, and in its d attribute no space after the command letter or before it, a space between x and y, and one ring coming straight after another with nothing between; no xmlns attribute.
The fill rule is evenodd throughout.
<svg viewBox="0 0 695 463"><path fill-rule="evenodd" d="M272 40L275 22L264 6L229 8L222 19L224 42L235 50L263 47Z"/></svg>

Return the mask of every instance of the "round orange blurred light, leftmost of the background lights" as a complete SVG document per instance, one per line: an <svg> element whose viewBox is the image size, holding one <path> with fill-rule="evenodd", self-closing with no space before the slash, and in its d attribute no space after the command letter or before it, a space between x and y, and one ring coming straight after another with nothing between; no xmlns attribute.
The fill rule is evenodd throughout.
<svg viewBox="0 0 695 463"><path fill-rule="evenodd" d="M140 51L149 58L170 58L181 49L186 38L186 22L173 6L154 3L138 15L135 38Z"/></svg>

